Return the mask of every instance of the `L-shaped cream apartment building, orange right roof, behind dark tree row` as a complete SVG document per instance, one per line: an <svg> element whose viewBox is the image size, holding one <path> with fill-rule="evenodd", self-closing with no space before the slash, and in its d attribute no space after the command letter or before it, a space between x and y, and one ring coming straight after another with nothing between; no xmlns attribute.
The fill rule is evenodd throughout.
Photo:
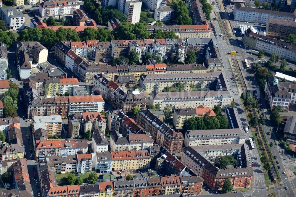
<svg viewBox="0 0 296 197"><path fill-rule="evenodd" d="M191 117L215 117L216 114L213 109L203 105L197 108L175 109L173 113L173 125L176 129L181 129L185 120Z"/></svg>

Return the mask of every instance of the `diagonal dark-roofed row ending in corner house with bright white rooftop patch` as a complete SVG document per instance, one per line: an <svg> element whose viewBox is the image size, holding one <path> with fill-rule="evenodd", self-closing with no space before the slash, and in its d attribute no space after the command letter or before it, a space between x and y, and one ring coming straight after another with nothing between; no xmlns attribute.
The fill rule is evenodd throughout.
<svg viewBox="0 0 296 197"><path fill-rule="evenodd" d="M107 99L115 108L122 109L123 112L131 112L135 107L140 109L146 107L147 102L141 92L136 90L127 94L117 83L109 81L106 75L95 75L94 87L104 99Z"/></svg>

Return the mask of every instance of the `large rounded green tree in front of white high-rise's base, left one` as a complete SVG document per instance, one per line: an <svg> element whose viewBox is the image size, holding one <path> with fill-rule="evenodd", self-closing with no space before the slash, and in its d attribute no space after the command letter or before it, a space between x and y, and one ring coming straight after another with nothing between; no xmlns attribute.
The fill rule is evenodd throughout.
<svg viewBox="0 0 296 197"><path fill-rule="evenodd" d="M136 35L133 33L133 27L134 25L128 22L120 22L119 26L113 30L114 39L136 39Z"/></svg>

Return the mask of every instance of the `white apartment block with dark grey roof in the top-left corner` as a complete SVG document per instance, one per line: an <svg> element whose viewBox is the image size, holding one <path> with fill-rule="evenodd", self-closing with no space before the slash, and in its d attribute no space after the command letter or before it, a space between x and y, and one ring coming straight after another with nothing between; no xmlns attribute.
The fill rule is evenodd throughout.
<svg viewBox="0 0 296 197"><path fill-rule="evenodd" d="M20 1L20 0L17 0ZM25 15L14 7L0 7L1 19L8 29L18 30L25 28Z"/></svg>

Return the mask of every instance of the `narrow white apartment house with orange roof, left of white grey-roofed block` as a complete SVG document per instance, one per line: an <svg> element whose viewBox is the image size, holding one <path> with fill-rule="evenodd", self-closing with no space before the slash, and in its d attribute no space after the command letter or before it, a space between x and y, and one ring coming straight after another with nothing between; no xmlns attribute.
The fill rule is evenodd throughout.
<svg viewBox="0 0 296 197"><path fill-rule="evenodd" d="M77 157L77 167L76 170L78 173L91 172L93 167L93 161L91 154L83 154L78 152Z"/></svg>

